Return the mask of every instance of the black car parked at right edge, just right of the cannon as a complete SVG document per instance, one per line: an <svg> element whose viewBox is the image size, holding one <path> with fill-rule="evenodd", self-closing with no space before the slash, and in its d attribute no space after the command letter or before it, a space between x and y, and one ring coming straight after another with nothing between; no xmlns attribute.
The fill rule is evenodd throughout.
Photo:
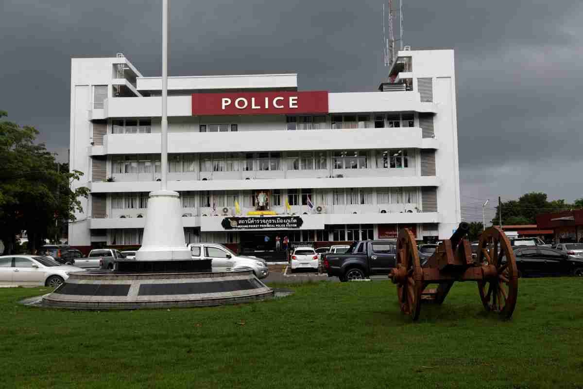
<svg viewBox="0 0 583 389"><path fill-rule="evenodd" d="M583 276L583 258L570 257L560 250L540 246L519 247L515 248L514 255L518 276Z"/></svg>

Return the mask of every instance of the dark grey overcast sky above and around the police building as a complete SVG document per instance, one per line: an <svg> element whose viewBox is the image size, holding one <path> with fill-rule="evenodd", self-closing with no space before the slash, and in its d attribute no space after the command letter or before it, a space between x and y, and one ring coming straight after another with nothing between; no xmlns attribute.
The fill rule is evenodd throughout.
<svg viewBox="0 0 583 389"><path fill-rule="evenodd" d="M71 57L123 52L161 73L161 1L0 1L0 110L51 150L69 144ZM403 2L406 45L455 49L462 217L481 219L498 195L583 197L583 2ZM382 0L171 0L169 74L297 72L303 90L374 91L387 77L381 11Z"/></svg>

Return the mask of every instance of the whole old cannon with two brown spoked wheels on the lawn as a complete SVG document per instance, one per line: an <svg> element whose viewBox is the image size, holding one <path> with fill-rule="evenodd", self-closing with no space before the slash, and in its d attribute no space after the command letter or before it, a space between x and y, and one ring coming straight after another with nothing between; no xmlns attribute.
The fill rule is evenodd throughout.
<svg viewBox="0 0 583 389"><path fill-rule="evenodd" d="M441 304L455 281L476 281L487 311L510 318L518 295L518 271L510 240L498 227L482 233L477 258L472 258L468 223L440 243L423 267L420 265L415 237L402 229L397 240L397 265L389 278L397 285L401 311L413 320L419 318L421 303ZM437 288L427 286L437 284Z"/></svg>

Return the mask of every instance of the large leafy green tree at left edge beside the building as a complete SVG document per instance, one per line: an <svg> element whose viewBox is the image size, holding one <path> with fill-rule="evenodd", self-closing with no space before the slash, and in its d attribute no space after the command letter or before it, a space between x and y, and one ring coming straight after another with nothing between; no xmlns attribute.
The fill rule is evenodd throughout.
<svg viewBox="0 0 583 389"><path fill-rule="evenodd" d="M4 116L6 112L0 111L0 117ZM71 189L83 173L59 171L44 143L34 143L37 135L34 127L0 122L0 239L8 253L23 230L30 252L54 238L55 222L75 220L75 212L83 211L79 197L89 195L86 187Z"/></svg>

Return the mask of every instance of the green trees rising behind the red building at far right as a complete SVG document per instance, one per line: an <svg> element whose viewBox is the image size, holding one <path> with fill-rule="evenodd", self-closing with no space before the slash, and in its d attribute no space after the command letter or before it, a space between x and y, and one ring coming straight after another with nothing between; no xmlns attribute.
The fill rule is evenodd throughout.
<svg viewBox="0 0 583 389"><path fill-rule="evenodd" d="M577 204L577 201L575 201ZM583 199L581 199L583 205ZM547 195L541 192L531 192L522 195L518 201L510 200L502 202L502 224L503 225L525 225L536 224L536 215L541 213L552 213L573 208L563 199L547 201ZM575 206L575 208L577 208ZM500 208L496 206L496 216L491 220L497 226L500 218Z"/></svg>

